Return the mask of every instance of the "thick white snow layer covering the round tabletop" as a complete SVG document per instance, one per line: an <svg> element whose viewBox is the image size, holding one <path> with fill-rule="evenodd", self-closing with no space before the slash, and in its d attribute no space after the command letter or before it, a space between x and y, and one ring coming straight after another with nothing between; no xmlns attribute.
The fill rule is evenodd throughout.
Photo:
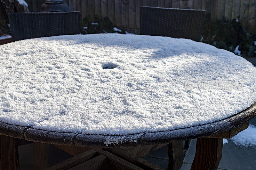
<svg viewBox="0 0 256 170"><path fill-rule="evenodd" d="M250 62L188 39L66 35L16 41L0 53L0 121L9 124L134 134L211 123L256 102ZM208 86L188 89L187 81Z"/></svg>

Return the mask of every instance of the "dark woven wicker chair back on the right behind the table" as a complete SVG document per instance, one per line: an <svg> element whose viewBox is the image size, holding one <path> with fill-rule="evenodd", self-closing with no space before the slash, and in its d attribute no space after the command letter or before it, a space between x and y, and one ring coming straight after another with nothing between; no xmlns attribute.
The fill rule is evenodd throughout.
<svg viewBox="0 0 256 170"><path fill-rule="evenodd" d="M140 34L200 41L204 10L140 7Z"/></svg>

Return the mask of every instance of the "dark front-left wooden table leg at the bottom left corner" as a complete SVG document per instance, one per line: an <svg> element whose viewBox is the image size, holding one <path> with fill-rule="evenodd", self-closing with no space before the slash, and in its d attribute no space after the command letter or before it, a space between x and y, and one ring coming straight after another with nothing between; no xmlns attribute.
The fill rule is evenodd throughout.
<svg viewBox="0 0 256 170"><path fill-rule="evenodd" d="M20 169L16 153L15 138L9 136L0 136L0 169Z"/></svg>

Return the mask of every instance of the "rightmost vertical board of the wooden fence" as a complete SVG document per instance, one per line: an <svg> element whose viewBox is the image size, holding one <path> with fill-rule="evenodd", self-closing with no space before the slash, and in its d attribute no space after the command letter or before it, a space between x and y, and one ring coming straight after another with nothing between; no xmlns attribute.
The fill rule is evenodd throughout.
<svg viewBox="0 0 256 170"><path fill-rule="evenodd" d="M249 5L249 11L248 11L248 23L247 27L248 30L251 32L255 31L255 22L256 22L256 4L255 0L250 0L250 5Z"/></svg>

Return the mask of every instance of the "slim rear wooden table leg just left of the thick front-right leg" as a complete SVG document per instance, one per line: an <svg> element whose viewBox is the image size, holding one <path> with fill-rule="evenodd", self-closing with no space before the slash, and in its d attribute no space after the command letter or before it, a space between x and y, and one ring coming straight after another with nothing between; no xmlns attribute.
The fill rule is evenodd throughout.
<svg viewBox="0 0 256 170"><path fill-rule="evenodd" d="M183 164L183 144L182 141L168 144L169 163L167 170L178 170Z"/></svg>

